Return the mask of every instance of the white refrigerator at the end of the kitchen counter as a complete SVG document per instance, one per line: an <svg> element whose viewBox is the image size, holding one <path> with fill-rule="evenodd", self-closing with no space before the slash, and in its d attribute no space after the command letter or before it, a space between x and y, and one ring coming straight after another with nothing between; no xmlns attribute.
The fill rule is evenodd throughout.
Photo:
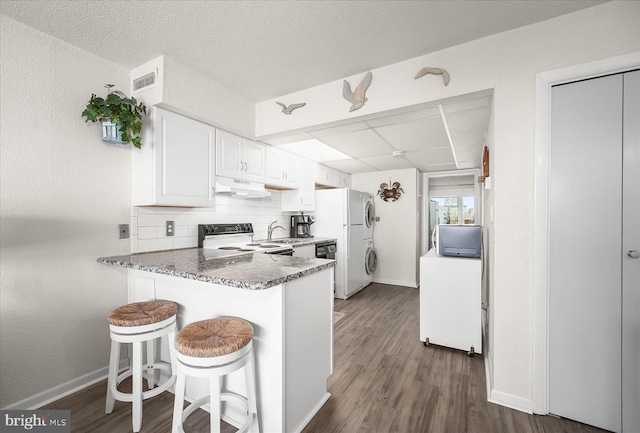
<svg viewBox="0 0 640 433"><path fill-rule="evenodd" d="M335 297L347 299L364 278L364 195L349 188L316 191L315 236L337 239Z"/></svg>

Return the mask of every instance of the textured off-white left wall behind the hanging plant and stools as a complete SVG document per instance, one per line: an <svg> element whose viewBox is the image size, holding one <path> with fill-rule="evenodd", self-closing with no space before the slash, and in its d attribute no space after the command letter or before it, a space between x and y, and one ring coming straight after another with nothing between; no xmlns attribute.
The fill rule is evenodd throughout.
<svg viewBox="0 0 640 433"><path fill-rule="evenodd" d="M106 316L126 274L96 263L129 251L130 148L80 113L129 71L1 16L0 407L108 364Z"/></svg>

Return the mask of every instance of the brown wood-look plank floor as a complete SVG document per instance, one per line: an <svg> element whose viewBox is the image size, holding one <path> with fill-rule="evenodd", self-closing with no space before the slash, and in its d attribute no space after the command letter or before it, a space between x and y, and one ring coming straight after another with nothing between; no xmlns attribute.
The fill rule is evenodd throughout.
<svg viewBox="0 0 640 433"><path fill-rule="evenodd" d="M335 324L332 396L303 433L604 432L488 403L482 356L419 341L416 289L374 283L336 299L335 310L344 316ZM131 405L116 402L105 415L105 391L99 382L44 409L70 409L73 433L130 432ZM168 392L146 400L141 433L170 432L172 408ZM199 411L186 427L204 433L208 424L208 413Z"/></svg>

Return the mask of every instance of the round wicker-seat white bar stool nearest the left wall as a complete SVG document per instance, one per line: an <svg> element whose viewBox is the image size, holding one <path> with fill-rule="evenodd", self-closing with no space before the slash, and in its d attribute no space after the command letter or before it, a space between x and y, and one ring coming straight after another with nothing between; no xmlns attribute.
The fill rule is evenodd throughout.
<svg viewBox="0 0 640 433"><path fill-rule="evenodd" d="M107 379L107 402L105 413L113 412L115 401L131 402L133 431L139 432L142 427L142 401L166 391L175 382L175 350L173 340L176 334L176 314L178 306L175 302L156 300L136 302L116 308L109 314L109 333L111 335L111 357L109 361L109 378ZM154 342L167 336L171 363L156 360ZM120 344L132 343L133 356L129 368L118 375L120 363ZM146 343L146 366L143 373L142 344ZM156 373L159 370L169 371L169 379L156 387ZM132 378L132 392L118 390L118 385L126 378ZM142 392L142 378L147 380L148 390Z"/></svg>

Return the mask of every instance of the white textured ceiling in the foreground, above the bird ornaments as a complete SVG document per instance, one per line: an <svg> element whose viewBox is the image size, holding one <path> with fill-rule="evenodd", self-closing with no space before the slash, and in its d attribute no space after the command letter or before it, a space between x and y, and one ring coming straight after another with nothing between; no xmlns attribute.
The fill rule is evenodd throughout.
<svg viewBox="0 0 640 433"><path fill-rule="evenodd" d="M165 54L259 102L602 1L1 0L129 69Z"/></svg>

